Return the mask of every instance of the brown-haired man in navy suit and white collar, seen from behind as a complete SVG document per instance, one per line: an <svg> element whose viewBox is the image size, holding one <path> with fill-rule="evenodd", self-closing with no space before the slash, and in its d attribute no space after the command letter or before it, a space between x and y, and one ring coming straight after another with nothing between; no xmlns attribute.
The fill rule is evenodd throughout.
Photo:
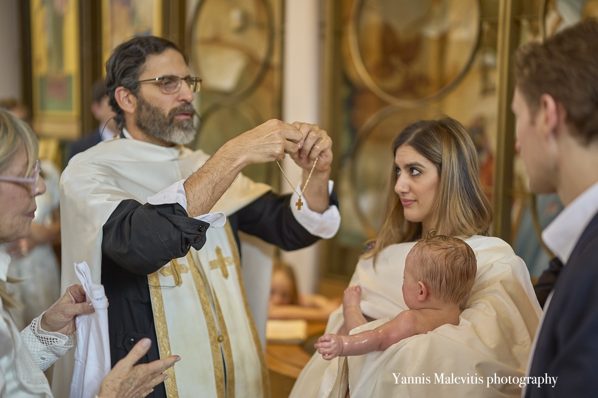
<svg viewBox="0 0 598 398"><path fill-rule="evenodd" d="M565 209L542 238L564 264L544 305L525 397L598 395L598 23L515 57L516 146L536 194Z"/></svg>

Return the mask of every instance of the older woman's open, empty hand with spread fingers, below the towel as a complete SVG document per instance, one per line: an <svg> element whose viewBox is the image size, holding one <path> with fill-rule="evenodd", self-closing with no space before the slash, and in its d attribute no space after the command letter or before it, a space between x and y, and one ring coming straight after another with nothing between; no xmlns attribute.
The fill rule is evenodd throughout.
<svg viewBox="0 0 598 398"><path fill-rule="evenodd" d="M168 378L163 372L181 357L173 355L150 363L135 365L151 347L151 340L141 339L126 357L114 365L103 379L97 396L100 398L139 398L154 391L154 386Z"/></svg>

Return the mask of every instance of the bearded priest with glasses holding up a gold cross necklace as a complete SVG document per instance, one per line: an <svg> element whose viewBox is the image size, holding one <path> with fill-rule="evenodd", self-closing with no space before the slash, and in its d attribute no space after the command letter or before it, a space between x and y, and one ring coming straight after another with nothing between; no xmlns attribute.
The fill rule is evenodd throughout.
<svg viewBox="0 0 598 398"><path fill-rule="evenodd" d="M62 174L62 289L77 281L73 263L87 261L110 303L112 366L145 337L154 344L142 362L181 356L148 397L267 397L237 231L285 250L332 237L332 142L317 125L270 120L211 157L191 151L183 145L196 134L200 82L166 39L114 50L106 87L122 132L75 155ZM301 187L311 172L300 210L290 206L297 198L240 173L285 153L304 170ZM68 363L54 369L55 396L66 396L69 379Z"/></svg>

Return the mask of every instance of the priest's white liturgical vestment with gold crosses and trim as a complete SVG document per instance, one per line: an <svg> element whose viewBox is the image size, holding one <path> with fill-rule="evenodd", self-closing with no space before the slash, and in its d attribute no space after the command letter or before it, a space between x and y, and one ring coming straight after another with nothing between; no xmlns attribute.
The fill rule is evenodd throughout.
<svg viewBox="0 0 598 398"><path fill-rule="evenodd" d="M61 180L63 264L87 261L99 283L102 226L118 204L130 199L144 204L206 160L202 151L134 139L108 140L75 155ZM231 215L268 191L239 174L211 212ZM71 283L77 278L65 269L62 286ZM184 258L148 275L148 285L160 357L181 356L166 371L169 398L269 396L266 360L228 223L209 228L201 250L191 247Z"/></svg>

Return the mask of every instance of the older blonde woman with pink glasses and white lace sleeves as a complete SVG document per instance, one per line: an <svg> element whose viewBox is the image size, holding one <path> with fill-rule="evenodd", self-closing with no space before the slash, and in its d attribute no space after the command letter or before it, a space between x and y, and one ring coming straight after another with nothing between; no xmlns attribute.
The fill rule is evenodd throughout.
<svg viewBox="0 0 598 398"><path fill-rule="evenodd" d="M25 237L36 209L35 197L45 191L39 178L38 142L33 131L0 109L0 243ZM52 397L45 369L75 345L75 317L93 312L83 288L72 285L56 303L21 332L7 309L19 305L8 293L10 256L0 253L0 396ZM135 365L151 341L142 339L103 380L101 398L145 397L167 378L163 372L180 358L170 356Z"/></svg>

